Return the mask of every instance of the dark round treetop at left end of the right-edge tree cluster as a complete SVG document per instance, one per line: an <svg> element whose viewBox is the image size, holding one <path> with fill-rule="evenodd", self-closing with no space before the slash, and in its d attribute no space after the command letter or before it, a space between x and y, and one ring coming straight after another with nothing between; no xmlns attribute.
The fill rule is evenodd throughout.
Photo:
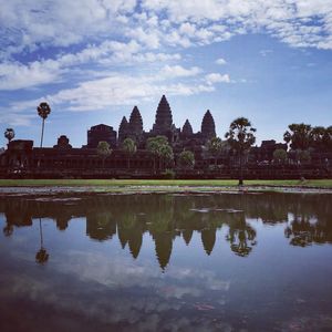
<svg viewBox="0 0 332 332"><path fill-rule="evenodd" d="M283 134L283 141L290 144L292 149L307 149L311 142L311 125L300 123L290 124L289 131Z"/></svg>

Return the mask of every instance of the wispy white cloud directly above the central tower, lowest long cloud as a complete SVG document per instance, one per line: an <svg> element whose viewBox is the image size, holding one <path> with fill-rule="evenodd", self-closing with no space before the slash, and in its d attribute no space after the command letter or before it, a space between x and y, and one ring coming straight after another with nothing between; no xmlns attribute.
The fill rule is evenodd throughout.
<svg viewBox="0 0 332 332"><path fill-rule="evenodd" d="M165 69L164 69L165 70ZM170 68L166 69L166 72ZM215 90L214 83L226 81L226 76L220 79L211 75L209 80L200 79L197 68L189 70L177 68L173 76L184 77L186 82L170 83L170 76L163 76L159 72L155 75L129 75L122 73L108 73L107 77L101 77L81 82L72 89L64 89L58 93L45 95L38 100L20 101L9 105L8 110L22 112L38 105L41 101L46 101L51 105L56 105L69 111L96 111L105 110L114 105L135 105L142 100L159 97L160 92L167 95L194 95ZM190 79L191 77L191 79Z"/></svg>

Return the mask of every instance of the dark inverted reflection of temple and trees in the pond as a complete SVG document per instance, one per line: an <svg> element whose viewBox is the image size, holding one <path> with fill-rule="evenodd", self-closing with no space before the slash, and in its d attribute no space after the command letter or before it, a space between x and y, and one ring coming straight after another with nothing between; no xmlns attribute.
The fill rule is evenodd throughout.
<svg viewBox="0 0 332 332"><path fill-rule="evenodd" d="M18 227L40 222L39 262L46 262L49 255L52 259L42 237L43 225L50 222L48 219L53 219L58 229L64 231L73 218L85 218L86 236L96 241L117 238L134 259L139 256L144 235L149 235L164 270L170 260L174 240L181 237L190 246L195 232L200 236L208 256L219 241L228 241L235 255L247 257L259 246L259 230L252 222L256 220L267 226L282 225L291 246L331 243L329 199L329 195L292 194L7 197L0 201L0 212L6 217L6 236L14 236ZM218 237L221 228L222 237Z"/></svg>

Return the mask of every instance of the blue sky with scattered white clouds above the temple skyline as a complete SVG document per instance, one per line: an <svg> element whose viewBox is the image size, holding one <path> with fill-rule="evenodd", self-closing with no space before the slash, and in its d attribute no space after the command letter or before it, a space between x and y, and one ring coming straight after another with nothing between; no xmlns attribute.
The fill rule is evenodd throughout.
<svg viewBox="0 0 332 332"><path fill-rule="evenodd" d="M257 143L291 123L332 125L332 0L0 0L0 131L38 146L118 129L135 105L149 131L163 94L176 127L210 110L217 135L245 116ZM3 135L0 146L7 141Z"/></svg>

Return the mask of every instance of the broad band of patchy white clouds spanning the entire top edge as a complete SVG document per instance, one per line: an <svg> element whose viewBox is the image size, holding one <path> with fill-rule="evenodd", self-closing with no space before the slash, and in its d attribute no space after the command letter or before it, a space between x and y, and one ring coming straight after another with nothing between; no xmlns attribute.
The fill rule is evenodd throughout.
<svg viewBox="0 0 332 332"><path fill-rule="evenodd" d="M2 56L112 35L147 49L189 46L264 32L292 46L332 49L331 0L0 0Z"/></svg>

